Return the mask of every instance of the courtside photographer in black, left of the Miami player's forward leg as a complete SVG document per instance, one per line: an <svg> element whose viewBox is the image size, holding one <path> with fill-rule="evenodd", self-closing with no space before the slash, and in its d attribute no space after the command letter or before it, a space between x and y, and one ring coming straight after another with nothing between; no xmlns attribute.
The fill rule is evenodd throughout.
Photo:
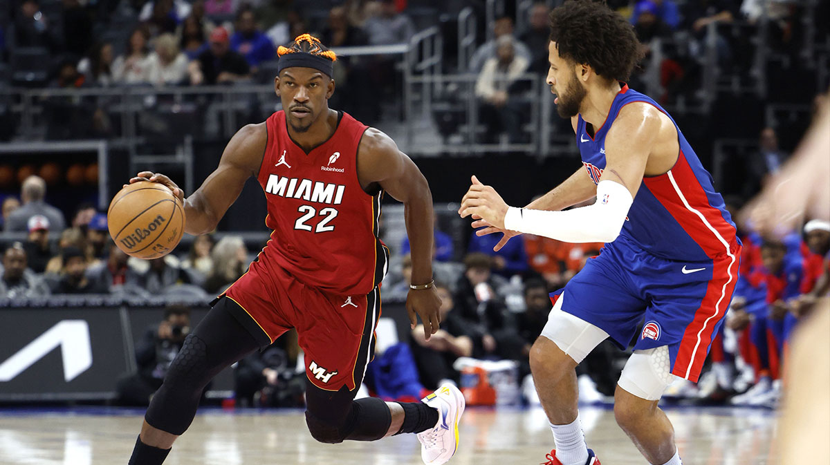
<svg viewBox="0 0 830 465"><path fill-rule="evenodd" d="M167 308L164 320L149 327L135 345L138 371L118 380L115 390L120 404L149 404L150 396L161 387L164 375L189 333L190 311L182 307Z"/></svg>

